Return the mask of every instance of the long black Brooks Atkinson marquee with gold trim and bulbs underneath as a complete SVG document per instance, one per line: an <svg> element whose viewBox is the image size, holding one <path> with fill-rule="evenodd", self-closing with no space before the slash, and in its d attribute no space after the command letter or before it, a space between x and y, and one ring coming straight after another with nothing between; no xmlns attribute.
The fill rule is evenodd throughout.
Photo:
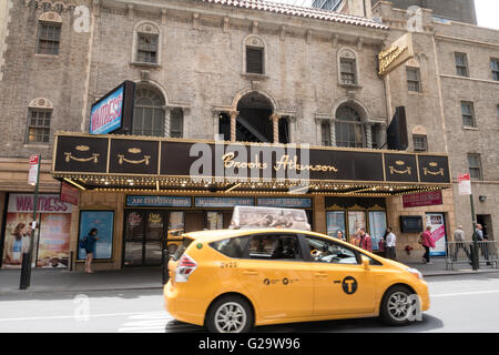
<svg viewBox="0 0 499 355"><path fill-rule="evenodd" d="M393 195L451 186L446 154L58 133L52 175L82 190Z"/></svg>

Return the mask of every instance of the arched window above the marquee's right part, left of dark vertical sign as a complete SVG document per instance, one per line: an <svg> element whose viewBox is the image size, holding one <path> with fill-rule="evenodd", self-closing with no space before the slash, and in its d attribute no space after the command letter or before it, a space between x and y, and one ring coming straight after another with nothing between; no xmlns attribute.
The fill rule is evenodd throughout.
<svg viewBox="0 0 499 355"><path fill-rule="evenodd" d="M366 129L360 114L348 105L342 105L336 111L335 133L337 146L366 146Z"/></svg>

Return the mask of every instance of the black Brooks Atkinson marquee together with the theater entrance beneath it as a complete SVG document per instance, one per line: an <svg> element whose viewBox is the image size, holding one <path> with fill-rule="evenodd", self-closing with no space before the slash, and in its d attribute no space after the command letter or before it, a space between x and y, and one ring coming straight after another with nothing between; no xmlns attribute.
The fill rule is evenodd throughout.
<svg viewBox="0 0 499 355"><path fill-rule="evenodd" d="M179 231L228 227L235 205L303 209L314 231L330 235L364 226L377 250L399 223L400 195L451 186L441 154L81 133L57 134L52 174L77 190L77 268L78 239L93 226L100 267L154 266Z"/></svg>

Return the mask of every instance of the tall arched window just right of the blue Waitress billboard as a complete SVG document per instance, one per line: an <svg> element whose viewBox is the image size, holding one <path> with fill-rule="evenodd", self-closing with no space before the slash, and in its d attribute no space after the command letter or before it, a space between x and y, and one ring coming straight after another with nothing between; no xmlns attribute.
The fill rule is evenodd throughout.
<svg viewBox="0 0 499 355"><path fill-rule="evenodd" d="M164 136L164 98L155 89L139 87L135 91L133 134Z"/></svg>

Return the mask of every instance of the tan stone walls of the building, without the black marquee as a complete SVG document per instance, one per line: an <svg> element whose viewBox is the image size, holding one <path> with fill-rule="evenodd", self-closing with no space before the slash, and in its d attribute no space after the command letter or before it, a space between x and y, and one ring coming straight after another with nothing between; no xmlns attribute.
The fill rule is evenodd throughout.
<svg viewBox="0 0 499 355"><path fill-rule="evenodd" d="M343 144L345 139L336 130L343 126L338 122L343 119L338 112L355 112L354 120L358 120L355 124L360 129L356 131L359 136L353 140L358 144L355 146L368 152L383 145L395 108L405 105L410 141L408 151L417 151L413 144L413 135L416 135L426 139L427 152L449 153L454 179L461 168L466 168L461 153L465 148L449 116L454 114L452 119L458 119L451 111L456 110L450 104L455 99L444 88L452 85L452 81L464 88L483 85L481 90L489 91L487 97L491 102L491 90L497 87L490 79L462 80L446 73L445 69L451 67L448 63L450 49L446 45L475 43L483 49L483 55L488 55L487 50L493 52L497 45L490 30L435 23L431 12L425 10L424 31L413 33L415 59L380 78L377 54L405 33L404 11L393 9L389 3L378 3L374 11L384 21L380 24L355 16L266 6L259 9L251 1L234 4L211 0L16 2L9 11L9 17L16 21L9 22L1 67L0 106L3 110L0 124L4 135L9 136L0 148L2 205L7 205L9 193L32 192L26 181L27 158L33 153L40 153L43 159L41 191L59 191L60 183L50 174L54 133L89 132L91 104L124 80L136 84L135 105L143 111L135 111L135 115L147 110L154 112L157 121L151 123L151 130L162 136L214 140L224 133L227 140L238 140L238 130L244 130L236 125L237 114L242 110L265 109L272 113L272 116L267 115L272 120L271 143L281 141L278 128L281 122L286 122L286 142L335 146ZM55 30L60 33L57 53L40 53L40 45L47 44L40 39L41 24L59 29ZM454 29L459 29L461 32L457 33L468 39L447 34ZM473 36L483 38L477 41ZM48 48L53 50L52 44ZM254 53L248 49L262 55L259 72L248 70L248 55ZM23 60L19 61L19 58ZM420 92L408 90L406 67L418 69ZM477 70L476 75L485 75L485 70L481 74ZM417 85L418 80L411 84ZM466 89L462 100L478 101L475 97L465 98L465 92ZM486 106L483 110L490 111ZM32 112L43 118L49 113L50 134L47 139L43 134L31 134L40 131L30 130ZM478 113L477 110L477 119ZM138 134L149 128L144 123L133 130ZM487 135L475 128L460 130L459 126L460 134L480 134L481 140ZM492 132L489 134L493 135ZM470 144L471 148L479 150L477 144ZM479 152L487 181L476 185L490 189L498 181L493 168L489 170L493 155ZM205 193L210 194L208 191ZM312 219L314 230L318 232L327 231L325 199L328 196L335 196L334 191L305 195L313 201ZM358 196L377 197L379 194ZM442 204L431 207L404 209L401 195L386 193L381 196L386 202L387 224L399 235L400 260L418 258L422 254L417 234L401 233L400 215L416 214L425 219L430 212L442 213L449 239L457 223L466 223L455 216L461 219L466 210L466 202L461 203L456 189L454 192L452 189L444 190ZM497 196L490 195L486 204L492 204ZM116 211L116 242L112 261L103 264L104 268L123 265L125 197L125 193L103 190L81 192L80 210ZM455 214L455 204L462 214ZM493 213L493 210L489 212L491 219L497 220ZM72 212L72 221L70 247L78 252L78 209ZM413 246L415 252L406 254L406 246Z"/></svg>

